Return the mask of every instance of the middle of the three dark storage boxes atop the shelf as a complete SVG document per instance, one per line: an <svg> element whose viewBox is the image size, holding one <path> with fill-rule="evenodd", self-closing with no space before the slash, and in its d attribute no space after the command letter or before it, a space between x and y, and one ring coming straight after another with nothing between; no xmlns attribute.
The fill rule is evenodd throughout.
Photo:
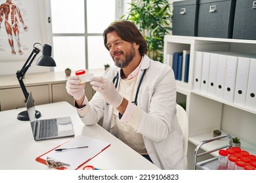
<svg viewBox="0 0 256 183"><path fill-rule="evenodd" d="M200 0L198 37L232 38L235 0Z"/></svg>

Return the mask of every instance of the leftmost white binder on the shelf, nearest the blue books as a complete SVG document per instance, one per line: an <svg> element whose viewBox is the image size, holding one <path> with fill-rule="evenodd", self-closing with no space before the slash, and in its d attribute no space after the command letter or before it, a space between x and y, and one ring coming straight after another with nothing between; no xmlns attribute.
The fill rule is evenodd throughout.
<svg viewBox="0 0 256 183"><path fill-rule="evenodd" d="M200 89L201 89L202 61L203 61L203 52L196 51L193 90L197 92L200 92Z"/></svg>

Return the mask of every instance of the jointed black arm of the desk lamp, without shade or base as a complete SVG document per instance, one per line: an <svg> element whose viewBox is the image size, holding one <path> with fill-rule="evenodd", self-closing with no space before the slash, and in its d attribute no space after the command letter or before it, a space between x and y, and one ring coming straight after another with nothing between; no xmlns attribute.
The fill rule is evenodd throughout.
<svg viewBox="0 0 256 183"><path fill-rule="evenodd" d="M23 76L26 74L26 72L28 71L28 69L32 65L33 60L35 59L37 54L39 54L39 52L40 52L40 50L38 48L34 47L32 53L30 54L30 56L27 59L26 63L24 63L22 69L20 71L17 71L17 73L16 73L16 77L18 78L18 82L20 83L20 88L22 89L22 92L24 94L24 97L25 97L26 101L28 100L29 93L28 93L28 91L26 89L26 86L25 86L25 84L23 82Z"/></svg>

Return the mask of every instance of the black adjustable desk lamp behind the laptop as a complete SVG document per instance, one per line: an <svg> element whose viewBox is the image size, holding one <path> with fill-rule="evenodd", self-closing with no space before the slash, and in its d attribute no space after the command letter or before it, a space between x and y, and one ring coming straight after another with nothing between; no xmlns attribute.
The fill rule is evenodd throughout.
<svg viewBox="0 0 256 183"><path fill-rule="evenodd" d="M40 43L36 42L35 44L40 44ZM30 66L31 66L33 60L35 59L35 57L37 56L37 54L39 54L39 52L41 51L35 47L35 44L33 44L33 51L30 54L29 58L27 59L26 63L24 63L22 69L20 71L17 71L17 73L16 73L16 77L18 78L18 82L20 83L20 88L22 89L22 92L24 93L26 101L28 100L29 93L26 90L26 86L23 82L23 77L26 74L26 72L28 71L28 68L30 68ZM52 46L49 44L43 44L42 47L43 47L43 56L41 56L37 60L36 65L55 67L56 63L55 63L54 59L51 57ZM36 111L35 118L40 118L40 117L41 117L41 113L39 111ZM28 118L27 110L20 112L18 114L17 118L18 118L18 120L21 120L21 121L28 121L29 118Z"/></svg>

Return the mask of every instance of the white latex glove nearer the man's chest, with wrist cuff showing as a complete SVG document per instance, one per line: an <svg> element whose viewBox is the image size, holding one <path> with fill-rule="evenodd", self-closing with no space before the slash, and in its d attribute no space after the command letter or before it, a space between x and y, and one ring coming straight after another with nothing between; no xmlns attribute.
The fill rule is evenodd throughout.
<svg viewBox="0 0 256 183"><path fill-rule="evenodd" d="M102 77L93 77L91 78L91 85L93 90L101 93L105 101L115 108L123 101L123 97L117 93L112 81Z"/></svg>

